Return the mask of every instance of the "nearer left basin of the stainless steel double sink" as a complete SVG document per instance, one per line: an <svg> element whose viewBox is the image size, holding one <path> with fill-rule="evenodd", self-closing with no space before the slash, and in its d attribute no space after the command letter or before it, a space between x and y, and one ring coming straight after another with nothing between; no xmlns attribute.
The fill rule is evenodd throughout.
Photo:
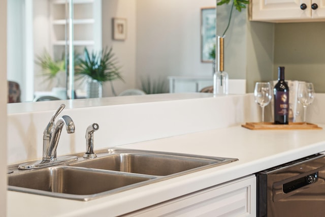
<svg viewBox="0 0 325 217"><path fill-rule="evenodd" d="M9 175L8 185L9 190L13 191L89 200L101 196L101 193L130 188L133 184L152 178L155 177L63 166Z"/></svg>

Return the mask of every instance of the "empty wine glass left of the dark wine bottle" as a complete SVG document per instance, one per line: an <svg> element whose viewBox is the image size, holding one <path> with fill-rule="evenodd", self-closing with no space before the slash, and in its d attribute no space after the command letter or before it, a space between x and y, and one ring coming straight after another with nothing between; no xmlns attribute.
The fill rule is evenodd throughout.
<svg viewBox="0 0 325 217"><path fill-rule="evenodd" d="M264 107L269 105L272 99L270 82L256 82L254 89L255 102L262 107L262 122L264 122Z"/></svg>

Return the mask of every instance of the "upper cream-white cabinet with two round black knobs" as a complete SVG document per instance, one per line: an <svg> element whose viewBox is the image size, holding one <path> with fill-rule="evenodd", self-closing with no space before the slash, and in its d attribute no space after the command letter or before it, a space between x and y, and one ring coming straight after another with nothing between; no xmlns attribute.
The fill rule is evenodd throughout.
<svg viewBox="0 0 325 217"><path fill-rule="evenodd" d="M250 0L250 20L325 21L325 0Z"/></svg>

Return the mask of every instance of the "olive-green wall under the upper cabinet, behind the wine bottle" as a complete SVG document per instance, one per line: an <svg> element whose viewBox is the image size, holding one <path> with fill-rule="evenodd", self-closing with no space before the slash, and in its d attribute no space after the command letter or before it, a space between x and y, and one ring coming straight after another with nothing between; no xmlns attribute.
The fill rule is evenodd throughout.
<svg viewBox="0 0 325 217"><path fill-rule="evenodd" d="M325 22L275 24L274 75L285 67L285 78L314 84L325 92Z"/></svg>

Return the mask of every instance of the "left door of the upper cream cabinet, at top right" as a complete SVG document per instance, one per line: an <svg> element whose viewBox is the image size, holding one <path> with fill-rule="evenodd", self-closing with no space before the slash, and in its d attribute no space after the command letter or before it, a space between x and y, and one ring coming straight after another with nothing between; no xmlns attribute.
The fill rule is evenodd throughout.
<svg viewBox="0 0 325 217"><path fill-rule="evenodd" d="M318 0L324 1L324 0ZM311 18L311 0L251 0L250 19L256 21L281 22ZM303 4L306 5L304 8ZM303 6L302 6L303 5ZM301 8L302 7L302 8Z"/></svg>

